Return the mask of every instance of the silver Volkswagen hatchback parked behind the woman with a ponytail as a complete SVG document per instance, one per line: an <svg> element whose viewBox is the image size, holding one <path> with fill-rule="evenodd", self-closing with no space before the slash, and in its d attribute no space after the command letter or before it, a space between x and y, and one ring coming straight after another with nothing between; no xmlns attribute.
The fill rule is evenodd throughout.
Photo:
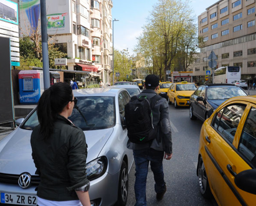
<svg viewBox="0 0 256 206"><path fill-rule="evenodd" d="M87 176L92 206L126 205L128 173L133 155L127 149L125 105L130 95L124 89L73 90L79 110L69 119L83 129L88 145ZM21 121L21 120L19 120ZM19 122L18 121L18 122ZM1 204L36 205L35 175L30 135L38 124L32 111L14 132L0 142Z"/></svg>

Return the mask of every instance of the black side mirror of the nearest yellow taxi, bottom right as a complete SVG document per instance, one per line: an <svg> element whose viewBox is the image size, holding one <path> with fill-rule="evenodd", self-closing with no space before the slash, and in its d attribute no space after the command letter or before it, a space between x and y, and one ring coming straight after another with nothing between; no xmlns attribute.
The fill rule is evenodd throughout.
<svg viewBox="0 0 256 206"><path fill-rule="evenodd" d="M241 190L256 194L256 169L248 169L240 172L234 178L234 183Z"/></svg>

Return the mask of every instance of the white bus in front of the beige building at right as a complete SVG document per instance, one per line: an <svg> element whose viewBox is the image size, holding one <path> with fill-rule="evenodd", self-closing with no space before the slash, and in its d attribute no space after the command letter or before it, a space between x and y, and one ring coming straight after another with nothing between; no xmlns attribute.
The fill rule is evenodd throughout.
<svg viewBox="0 0 256 206"><path fill-rule="evenodd" d="M213 83L228 83L231 84L235 80L241 79L240 67L220 67L213 73Z"/></svg>

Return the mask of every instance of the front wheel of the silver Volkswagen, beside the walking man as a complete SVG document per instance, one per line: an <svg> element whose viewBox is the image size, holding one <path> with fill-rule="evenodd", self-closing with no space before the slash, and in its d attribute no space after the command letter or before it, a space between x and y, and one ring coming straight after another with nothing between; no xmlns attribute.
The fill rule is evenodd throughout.
<svg viewBox="0 0 256 206"><path fill-rule="evenodd" d="M119 183L118 183L118 199L115 205L125 206L128 197L128 167L126 162L123 160L120 175L119 175Z"/></svg>

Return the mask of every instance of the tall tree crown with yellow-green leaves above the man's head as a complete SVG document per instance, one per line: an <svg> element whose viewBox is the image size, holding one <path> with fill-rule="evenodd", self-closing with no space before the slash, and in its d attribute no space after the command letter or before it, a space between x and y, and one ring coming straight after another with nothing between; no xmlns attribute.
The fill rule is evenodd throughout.
<svg viewBox="0 0 256 206"><path fill-rule="evenodd" d="M193 61L198 38L189 3L189 0L158 0L138 38L135 51L149 62L150 73L158 74L161 80L167 70L187 71Z"/></svg>

